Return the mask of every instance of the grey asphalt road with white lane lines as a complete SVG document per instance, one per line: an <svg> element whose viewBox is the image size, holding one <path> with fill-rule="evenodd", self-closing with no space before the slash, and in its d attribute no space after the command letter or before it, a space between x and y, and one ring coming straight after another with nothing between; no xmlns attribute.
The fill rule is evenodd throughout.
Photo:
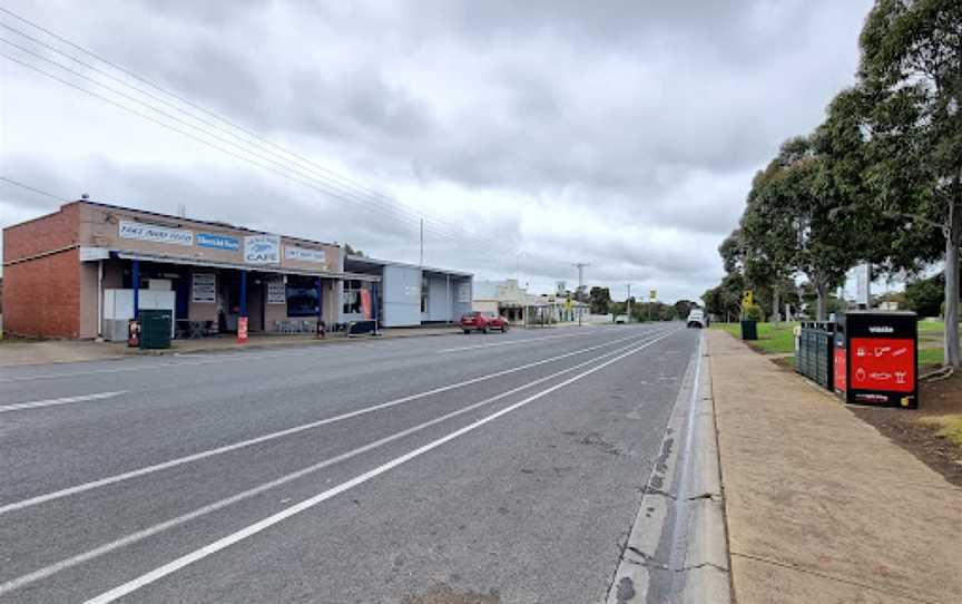
<svg viewBox="0 0 962 604"><path fill-rule="evenodd" d="M0 369L0 602L602 602L697 338Z"/></svg>

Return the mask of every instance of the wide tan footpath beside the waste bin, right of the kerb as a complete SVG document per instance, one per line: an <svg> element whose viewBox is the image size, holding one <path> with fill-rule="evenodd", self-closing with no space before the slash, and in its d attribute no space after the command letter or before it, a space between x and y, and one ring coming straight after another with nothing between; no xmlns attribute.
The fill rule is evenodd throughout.
<svg viewBox="0 0 962 604"><path fill-rule="evenodd" d="M707 335L736 601L962 601L962 489L827 392Z"/></svg>

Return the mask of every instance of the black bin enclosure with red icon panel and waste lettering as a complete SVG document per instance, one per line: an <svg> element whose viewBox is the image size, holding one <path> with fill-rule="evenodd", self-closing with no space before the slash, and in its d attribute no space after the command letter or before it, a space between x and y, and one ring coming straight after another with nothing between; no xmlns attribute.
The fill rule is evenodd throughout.
<svg viewBox="0 0 962 604"><path fill-rule="evenodd" d="M835 331L835 393L845 402L919 407L914 312L848 311Z"/></svg>

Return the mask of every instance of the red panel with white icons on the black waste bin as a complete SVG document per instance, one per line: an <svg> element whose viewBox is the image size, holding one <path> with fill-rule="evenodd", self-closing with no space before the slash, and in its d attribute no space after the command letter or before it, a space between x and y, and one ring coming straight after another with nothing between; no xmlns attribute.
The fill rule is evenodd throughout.
<svg viewBox="0 0 962 604"><path fill-rule="evenodd" d="M860 390L913 392L915 345L909 339L853 338L852 387Z"/></svg>

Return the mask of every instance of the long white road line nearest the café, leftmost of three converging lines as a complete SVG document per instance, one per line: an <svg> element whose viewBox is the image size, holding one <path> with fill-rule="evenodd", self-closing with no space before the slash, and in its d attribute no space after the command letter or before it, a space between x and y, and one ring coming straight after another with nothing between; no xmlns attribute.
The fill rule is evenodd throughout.
<svg viewBox="0 0 962 604"><path fill-rule="evenodd" d="M503 370L503 371L498 371L498 372L494 372L494 373L489 373L489 374L487 374L487 376L480 376L480 377L478 377L478 378L471 378L471 379L469 379L469 380L464 380L464 381L460 381L460 382L451 383L451 384L448 384L448 386L442 386L442 387L440 387L440 388L434 388L434 389L431 389L431 390L426 390L426 391L424 391L424 392L419 392L419 393L416 393L416 394L409 394L409 396L406 396L406 397L401 397L401 398L399 398L399 399L390 400L390 401L387 401L387 402L382 402L382 403L380 403L380 405L374 405L374 406L371 406L371 407L365 407L365 408L363 408L363 409L357 409L357 410L355 410L355 411L349 411L349 412L346 412L346 413L342 413L342 415L340 415L340 416L334 416L334 417L330 417L330 418L321 419L321 420L317 420L317 421L312 421L312 422L310 422L310 423L303 423L303 425L301 425L301 426L295 426L295 427L293 427L293 428L286 428L286 429L284 429L284 430L278 430L278 431L276 431L276 432L271 432L271 433L267 433L267 435L264 435L264 436L258 436L258 437L251 438L251 439L247 439L247 440L242 440L242 441L239 441L239 442L234 442L234 444L232 444L232 445L224 445L223 447L216 447L216 448L214 448L214 449L207 449L207 450L199 451L199 452L196 452L196 454L193 454L193 455L188 455L188 456L185 456L185 457L178 457L178 458L176 458L176 459L169 459L169 460L167 460L167 461L163 461L163 462L160 462L160 464L155 464L155 465L153 465L153 466L146 466L146 467L143 467L143 468L138 468L138 469L136 469L136 470L130 470L130 471L126 471L126 473L122 473L122 474L115 474L115 475L112 475L112 476L108 476L108 477L106 477L106 478L100 478L100 479L98 479L98 480L91 480L91 481L89 481L89 483L84 483L84 484L80 484L80 485L75 485L75 486L72 486L72 487L67 487L67 488L65 488L65 489L55 490L55 491L51 491L51 493L46 493L46 494L43 494L43 495L38 495L38 496L36 496L36 497L30 497L29 499L22 499L22 500L20 500L20 501L13 501L13 503L10 503L10 504L0 505L0 515L7 514L7 513L10 513L10 512L14 512L14 510L18 510L18 509L22 509L22 508L24 508L24 507L30 507L30 506L36 506L36 505L39 505L39 504L43 504L43 503L46 503L46 501L52 501L53 499L61 499L61 498L63 498L63 497L68 497L68 496L70 496L70 495L77 495L78 493L84 493L84 491L91 490L91 489L95 489L95 488L105 487L105 486L107 486L107 485L114 485L114 484L117 484L117 483L121 483L121 481L124 481L124 480L129 480L129 479L131 479L131 478L137 478L137 477L139 477L139 476L145 476L145 475L154 474L154 473L157 473L157 471L160 471L160 470L166 470L166 469L169 469L169 468L173 468L173 467L176 467L176 466L181 466L181 465L184 465L184 464L189 464L189 462L192 462L192 461L198 461L198 460L200 460L200 459L206 459L206 458L208 458L208 457L214 457L214 456L216 456L216 455L222 455L222 454L226 454L226 452L234 451L234 450L237 450L237 449L242 449L242 448L245 448L245 447L251 447L251 446L253 446L253 445L257 445L257 444L261 444L261 442L266 442L266 441L268 441L268 440L274 440L274 439L282 438L282 437L285 437L285 436L295 435L295 433L297 433L297 432L303 432L303 431L305 431L305 430L311 430L311 429L313 429L313 428L318 428L318 427L321 427L321 426L326 426L326 425L328 425L328 423L334 423L334 422L337 422L337 421L343 421L343 420L345 420L345 419L355 418L355 417L357 417L357 416L362 416L362 415L365 415L365 413L371 413L371 412L373 412L373 411L380 411L381 409L387 409L387 408L391 408L391 407L394 407L394 406L397 406L397 405L402 405L402 403L404 403L404 402L410 402L410 401L412 401L412 400L418 400L418 399L421 399L421 398L424 398L424 397L430 397L430 396L432 396L432 394L438 394L438 393L441 393L441 392L446 392L446 391L449 391L449 390L454 390L454 389L457 389L457 388L463 388L463 387L465 387L465 386L470 386L470 384L472 384L472 383L478 383L478 382L482 382L482 381L485 381L485 380L491 380L491 379L494 379L494 378L500 378L501 376L507 376L507 374L509 374L509 373L516 373L516 372L518 372L518 371L523 371L523 370L526 370L526 369L530 369L530 368L532 368L532 367L538 367L538 366L541 366L541 364L544 364L544 363L549 363L549 362L553 362L553 361L557 361L557 360L560 360L560 359L566 359L566 358L568 358L568 357L573 357L573 355L576 355L576 354L583 354L585 352L589 352L589 351L591 351L591 350L597 350L597 349L599 349L599 348L603 348L603 347L607 347L607 345L617 344L618 342L622 342L622 341L625 341L625 340L641 339L641 338L644 338L644 337L646 337L646 335L650 335L650 334L648 334L648 333L645 333L645 334L641 334L641 335L639 335L639 334L635 334L635 335L630 335L630 337L628 337L628 338L621 338L621 339L618 339L618 340L612 340L612 341L610 341L610 342L603 342L603 343L596 344L596 345L592 345L592 347L588 347L588 348L583 348L583 349L580 349L580 350L576 350L576 351L573 351L573 352L567 352L567 353L565 353L565 354L558 354L557 357L550 357L550 358L548 358L548 359L542 359L542 360L540 360L540 361L534 361L534 362L527 363L527 364L522 364L522 366L519 366L519 367L513 367L513 368L511 368L511 369L505 369L505 370Z"/></svg>

